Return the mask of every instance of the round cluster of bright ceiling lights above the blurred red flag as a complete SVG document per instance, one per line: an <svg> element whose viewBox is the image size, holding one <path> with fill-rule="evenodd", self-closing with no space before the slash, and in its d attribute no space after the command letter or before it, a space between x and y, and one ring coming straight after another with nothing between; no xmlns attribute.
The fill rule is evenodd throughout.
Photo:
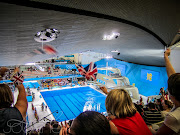
<svg viewBox="0 0 180 135"><path fill-rule="evenodd" d="M34 40L37 42L50 42L57 38L60 31L57 29L45 29L37 32L34 36Z"/></svg>

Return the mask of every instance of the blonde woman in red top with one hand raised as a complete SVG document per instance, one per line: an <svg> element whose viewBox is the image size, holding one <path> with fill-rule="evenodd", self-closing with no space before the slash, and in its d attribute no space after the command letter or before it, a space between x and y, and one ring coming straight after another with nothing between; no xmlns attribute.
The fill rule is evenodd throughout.
<svg viewBox="0 0 180 135"><path fill-rule="evenodd" d="M114 89L107 94L105 106L108 118L114 123L114 134L152 135L141 115L137 112L129 93L124 89Z"/></svg>

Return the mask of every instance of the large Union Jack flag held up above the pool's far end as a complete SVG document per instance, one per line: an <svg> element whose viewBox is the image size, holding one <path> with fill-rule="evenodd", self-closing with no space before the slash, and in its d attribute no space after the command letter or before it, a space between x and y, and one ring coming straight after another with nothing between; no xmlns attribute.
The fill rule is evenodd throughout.
<svg viewBox="0 0 180 135"><path fill-rule="evenodd" d="M93 80L96 80L97 75L97 67L94 62L91 62L87 67L83 68L81 65L76 65L76 68L78 69L79 73L86 77L87 80L90 80L91 78Z"/></svg>

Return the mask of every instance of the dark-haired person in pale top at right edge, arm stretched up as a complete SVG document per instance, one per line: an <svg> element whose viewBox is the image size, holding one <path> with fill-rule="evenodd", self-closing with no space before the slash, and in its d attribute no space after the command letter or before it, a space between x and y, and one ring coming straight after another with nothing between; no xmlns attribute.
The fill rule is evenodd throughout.
<svg viewBox="0 0 180 135"><path fill-rule="evenodd" d="M166 70L168 75L168 94L171 101L174 103L173 109L166 115L164 123L154 131L150 128L154 135L179 135L180 134L180 73L175 73L168 56L171 50L167 49L164 53Z"/></svg>

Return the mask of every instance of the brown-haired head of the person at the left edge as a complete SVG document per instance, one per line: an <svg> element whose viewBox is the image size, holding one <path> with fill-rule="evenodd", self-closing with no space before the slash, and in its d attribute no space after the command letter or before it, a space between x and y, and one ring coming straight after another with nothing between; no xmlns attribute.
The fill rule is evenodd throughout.
<svg viewBox="0 0 180 135"><path fill-rule="evenodd" d="M6 84L0 84L0 109L8 108L14 102L11 89Z"/></svg>

